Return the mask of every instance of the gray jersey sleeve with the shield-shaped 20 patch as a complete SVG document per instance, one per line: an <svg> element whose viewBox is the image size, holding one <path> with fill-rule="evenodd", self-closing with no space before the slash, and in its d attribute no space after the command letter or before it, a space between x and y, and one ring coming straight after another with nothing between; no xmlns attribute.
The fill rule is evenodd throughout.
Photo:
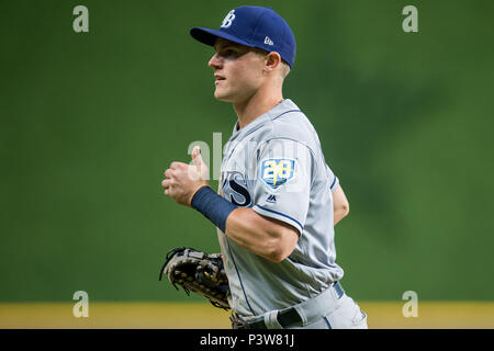
<svg viewBox="0 0 494 351"><path fill-rule="evenodd" d="M313 167L313 156L306 146L290 139L266 143L256 157L252 210L284 222L302 234Z"/></svg>

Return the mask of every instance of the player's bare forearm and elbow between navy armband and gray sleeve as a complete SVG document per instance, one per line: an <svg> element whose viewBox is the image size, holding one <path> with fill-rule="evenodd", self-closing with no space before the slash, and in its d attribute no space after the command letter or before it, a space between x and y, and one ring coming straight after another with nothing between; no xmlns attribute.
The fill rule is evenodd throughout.
<svg viewBox="0 0 494 351"><path fill-rule="evenodd" d="M297 235L288 225L274 223L251 208L238 207L226 220L226 236L245 249L281 262L295 248Z"/></svg>

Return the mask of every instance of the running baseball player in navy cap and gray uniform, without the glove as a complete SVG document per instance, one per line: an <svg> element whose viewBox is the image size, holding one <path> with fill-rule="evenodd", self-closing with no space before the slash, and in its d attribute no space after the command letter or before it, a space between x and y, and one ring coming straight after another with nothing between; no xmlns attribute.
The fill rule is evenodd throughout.
<svg viewBox="0 0 494 351"><path fill-rule="evenodd" d="M232 103L238 120L218 193L204 180L198 147L190 165L171 163L162 188L217 227L233 327L367 328L335 262L334 225L348 201L314 126L282 95L295 59L290 26L272 9L239 7L220 30L190 34L214 47L214 97Z"/></svg>

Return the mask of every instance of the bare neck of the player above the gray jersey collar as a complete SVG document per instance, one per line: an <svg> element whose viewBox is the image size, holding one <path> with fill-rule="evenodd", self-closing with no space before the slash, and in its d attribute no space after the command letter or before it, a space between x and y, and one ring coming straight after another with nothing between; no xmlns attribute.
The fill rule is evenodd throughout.
<svg viewBox="0 0 494 351"><path fill-rule="evenodd" d="M261 89L249 100L239 103L233 103L238 117L238 126L242 129L260 115L265 114L283 100L281 89L276 93L262 91Z"/></svg>

